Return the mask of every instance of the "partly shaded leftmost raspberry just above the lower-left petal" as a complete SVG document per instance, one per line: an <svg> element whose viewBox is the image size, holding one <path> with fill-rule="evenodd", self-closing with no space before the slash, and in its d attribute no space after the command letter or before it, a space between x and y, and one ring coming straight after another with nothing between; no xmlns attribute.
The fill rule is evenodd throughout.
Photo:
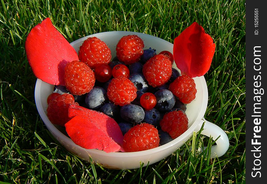
<svg viewBox="0 0 267 184"><path fill-rule="evenodd" d="M64 126L71 119L68 117L68 108L71 104L79 105L77 102L74 102L73 96L68 93L58 95L50 101L46 112L51 123Z"/></svg>

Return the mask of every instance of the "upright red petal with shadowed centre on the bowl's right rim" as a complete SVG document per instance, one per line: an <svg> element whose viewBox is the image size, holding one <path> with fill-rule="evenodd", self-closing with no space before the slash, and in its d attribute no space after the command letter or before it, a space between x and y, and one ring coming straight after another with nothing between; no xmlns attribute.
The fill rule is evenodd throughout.
<svg viewBox="0 0 267 184"><path fill-rule="evenodd" d="M207 73L215 44L203 27L194 22L174 39L173 57L181 74L200 77Z"/></svg>

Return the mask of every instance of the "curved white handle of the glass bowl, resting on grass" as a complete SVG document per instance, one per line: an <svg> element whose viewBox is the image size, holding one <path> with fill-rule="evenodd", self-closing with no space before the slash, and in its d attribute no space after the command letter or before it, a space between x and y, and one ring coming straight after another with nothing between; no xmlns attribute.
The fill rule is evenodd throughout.
<svg viewBox="0 0 267 184"><path fill-rule="evenodd" d="M224 155L226 153L226 151L229 148L229 139L228 136L226 135L226 133L222 130L222 128L220 128L219 126L205 120L203 118L205 124L203 127L203 130L201 132L201 134L208 136L208 137L212 137L213 140L216 140L216 144L215 146L211 147L211 158L215 158L215 157L220 157L222 155ZM200 127L202 126L202 124L200 124ZM199 129L200 129L199 127ZM204 149L206 149L207 147L204 147Z"/></svg>

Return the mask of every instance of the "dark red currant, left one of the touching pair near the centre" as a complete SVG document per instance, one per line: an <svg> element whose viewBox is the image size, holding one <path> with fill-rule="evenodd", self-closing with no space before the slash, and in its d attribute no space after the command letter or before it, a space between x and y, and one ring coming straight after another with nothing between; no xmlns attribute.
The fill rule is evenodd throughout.
<svg viewBox="0 0 267 184"><path fill-rule="evenodd" d="M95 79L99 82L107 82L112 76L112 69L106 63L101 63L95 67Z"/></svg>

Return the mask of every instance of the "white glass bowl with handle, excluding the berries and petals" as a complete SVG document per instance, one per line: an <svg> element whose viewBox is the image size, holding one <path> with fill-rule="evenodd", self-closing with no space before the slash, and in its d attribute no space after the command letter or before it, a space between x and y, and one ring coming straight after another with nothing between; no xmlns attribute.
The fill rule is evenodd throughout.
<svg viewBox="0 0 267 184"><path fill-rule="evenodd" d="M166 40L157 38L155 36L136 33L136 32L126 32L126 31L113 31L113 32L104 32L97 33L90 36L83 37L79 40L76 40L71 43L78 53L79 47L82 45L83 41L88 37L96 36L99 39L103 40L110 48L112 57L116 56L116 45L118 40L122 36L136 34L142 38L145 44L145 48L149 47L156 49L157 53L167 50L172 52L173 44L169 43ZM175 66L176 67L176 66ZM216 145L211 148L211 157L216 156L220 157L226 153L229 147L229 140L226 133L217 125L204 120L204 114L207 109L208 103L208 90L207 84L203 76L194 78L197 88L196 98L193 102L187 105L186 114L189 120L189 128L181 136L172 140L171 142L145 151L138 152L112 152L106 153L102 150L97 149L84 149L76 145L68 136L65 136L59 129L57 129L46 116L46 107L47 107L47 97L52 93L54 86L46 82L37 79L35 86L35 102L37 105L38 112L44 121L44 124L52 135L70 152L77 155L79 158L90 161L90 157L95 163L99 163L103 167L111 169L135 169L140 167L140 162L144 163L146 166L148 163L156 163L168 155L171 155L176 151L177 148L180 148L193 134L194 131L198 132L204 124L204 130L202 131L203 135L208 137L213 137L216 140Z"/></svg>

